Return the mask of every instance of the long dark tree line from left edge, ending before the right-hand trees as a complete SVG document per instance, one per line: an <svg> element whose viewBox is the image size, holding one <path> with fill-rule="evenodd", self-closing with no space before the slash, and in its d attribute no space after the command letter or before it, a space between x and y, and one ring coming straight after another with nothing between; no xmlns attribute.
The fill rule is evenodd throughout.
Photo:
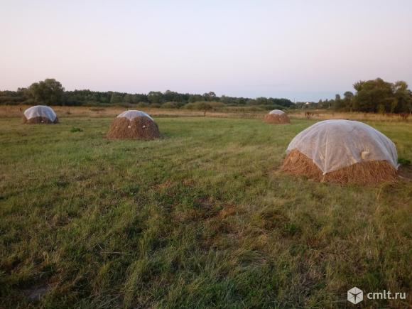
<svg viewBox="0 0 412 309"><path fill-rule="evenodd" d="M0 104L48 104L67 106L91 105L139 105L141 107L188 108L207 106L256 106L264 109L286 109L293 106L289 99L258 97L218 97L215 92L204 94L151 91L148 94L126 92L98 92L92 90L65 91L63 85L55 79L34 82L30 87L18 88L17 91L0 91Z"/></svg>

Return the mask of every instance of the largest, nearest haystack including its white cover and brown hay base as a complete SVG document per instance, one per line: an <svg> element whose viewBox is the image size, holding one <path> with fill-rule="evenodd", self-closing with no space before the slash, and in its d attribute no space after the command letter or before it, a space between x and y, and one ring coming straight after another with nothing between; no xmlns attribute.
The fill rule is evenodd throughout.
<svg viewBox="0 0 412 309"><path fill-rule="evenodd" d="M395 144L359 121L320 121L295 136L281 170L332 183L374 184L394 181Z"/></svg>

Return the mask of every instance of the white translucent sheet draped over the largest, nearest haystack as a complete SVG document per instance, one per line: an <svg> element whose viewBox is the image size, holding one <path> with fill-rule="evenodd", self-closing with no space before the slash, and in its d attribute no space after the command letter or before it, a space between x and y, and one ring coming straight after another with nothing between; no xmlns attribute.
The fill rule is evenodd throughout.
<svg viewBox="0 0 412 309"><path fill-rule="evenodd" d="M398 168L395 144L359 121L325 120L300 132L287 153L296 149L311 158L323 174L365 161L388 161Z"/></svg>

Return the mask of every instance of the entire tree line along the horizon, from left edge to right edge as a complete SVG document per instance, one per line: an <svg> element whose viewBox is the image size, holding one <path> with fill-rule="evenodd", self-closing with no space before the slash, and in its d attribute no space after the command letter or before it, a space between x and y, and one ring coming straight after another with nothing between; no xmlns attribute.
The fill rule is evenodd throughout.
<svg viewBox="0 0 412 309"><path fill-rule="evenodd" d="M152 91L148 94L126 92L98 92L91 90L65 91L57 80L34 82L30 87L17 91L0 91L0 104L48 104L67 106L124 105L138 107L163 107L168 109L215 109L219 107L248 107L269 109L333 109L342 112L411 113L412 92L403 81L386 82L381 78L359 81L353 85L355 92L347 91L335 99L319 102L298 102L273 97L218 97L215 92L204 94Z"/></svg>

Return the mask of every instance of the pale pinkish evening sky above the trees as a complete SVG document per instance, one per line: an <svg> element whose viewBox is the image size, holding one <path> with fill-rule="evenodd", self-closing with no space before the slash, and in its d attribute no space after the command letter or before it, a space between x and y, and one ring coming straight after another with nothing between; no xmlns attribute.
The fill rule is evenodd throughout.
<svg viewBox="0 0 412 309"><path fill-rule="evenodd" d="M0 0L0 90L173 90L318 101L412 86L411 0Z"/></svg>

